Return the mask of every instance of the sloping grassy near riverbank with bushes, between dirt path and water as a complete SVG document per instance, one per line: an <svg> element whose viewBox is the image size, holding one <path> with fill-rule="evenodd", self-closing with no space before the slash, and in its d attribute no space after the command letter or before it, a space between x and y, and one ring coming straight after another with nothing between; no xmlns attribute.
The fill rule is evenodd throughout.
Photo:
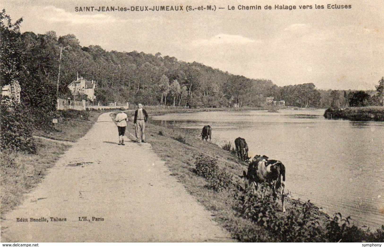
<svg viewBox="0 0 384 247"><path fill-rule="evenodd" d="M129 132L134 133L130 127ZM242 189L247 164L188 130L147 124L147 140L173 176L211 211L215 220L242 242L382 242L375 232L349 225L349 218L329 217L310 202L286 198L286 213L270 191L256 195Z"/></svg>

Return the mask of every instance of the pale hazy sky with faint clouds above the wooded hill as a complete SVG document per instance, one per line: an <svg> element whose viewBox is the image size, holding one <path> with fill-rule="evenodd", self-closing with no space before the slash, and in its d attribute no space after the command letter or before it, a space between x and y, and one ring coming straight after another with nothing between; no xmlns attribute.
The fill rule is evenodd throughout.
<svg viewBox="0 0 384 247"><path fill-rule="evenodd" d="M328 4L351 8L328 9ZM179 11L96 11L180 5ZM187 6L207 5L216 10L187 11ZM238 10L239 5L262 9ZM74 34L81 46L100 45L107 51L160 52L278 86L375 90L384 76L382 0L0 0L0 6L13 21L23 17L22 32ZM94 11L76 12L87 6Z"/></svg>

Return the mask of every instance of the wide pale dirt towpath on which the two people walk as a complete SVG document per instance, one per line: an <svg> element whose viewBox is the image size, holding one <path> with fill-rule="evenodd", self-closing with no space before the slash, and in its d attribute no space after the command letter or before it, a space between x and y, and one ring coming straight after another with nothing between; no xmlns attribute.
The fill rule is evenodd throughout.
<svg viewBox="0 0 384 247"><path fill-rule="evenodd" d="M233 241L170 176L151 144L117 141L115 124L102 114L25 202L5 215L2 242Z"/></svg>

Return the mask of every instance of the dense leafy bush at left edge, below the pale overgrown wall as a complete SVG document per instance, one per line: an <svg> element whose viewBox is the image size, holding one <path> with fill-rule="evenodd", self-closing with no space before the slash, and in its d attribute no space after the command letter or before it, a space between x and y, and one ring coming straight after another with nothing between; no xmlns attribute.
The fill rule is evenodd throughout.
<svg viewBox="0 0 384 247"><path fill-rule="evenodd" d="M6 106L2 101L0 122L1 151L11 149L36 153L36 144L28 124L28 116L20 104Z"/></svg>

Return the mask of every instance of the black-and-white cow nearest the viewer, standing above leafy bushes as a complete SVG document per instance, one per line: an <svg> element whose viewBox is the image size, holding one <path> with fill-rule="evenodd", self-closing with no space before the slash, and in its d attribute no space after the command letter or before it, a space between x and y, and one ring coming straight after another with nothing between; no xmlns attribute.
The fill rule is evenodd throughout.
<svg viewBox="0 0 384 247"><path fill-rule="evenodd" d="M281 203L284 206L284 182L285 182L285 166L281 161L268 159L267 156L256 155L249 160L248 172L243 171L244 182L246 186L255 185L266 182L273 189L273 194L276 196L276 191L281 194Z"/></svg>

